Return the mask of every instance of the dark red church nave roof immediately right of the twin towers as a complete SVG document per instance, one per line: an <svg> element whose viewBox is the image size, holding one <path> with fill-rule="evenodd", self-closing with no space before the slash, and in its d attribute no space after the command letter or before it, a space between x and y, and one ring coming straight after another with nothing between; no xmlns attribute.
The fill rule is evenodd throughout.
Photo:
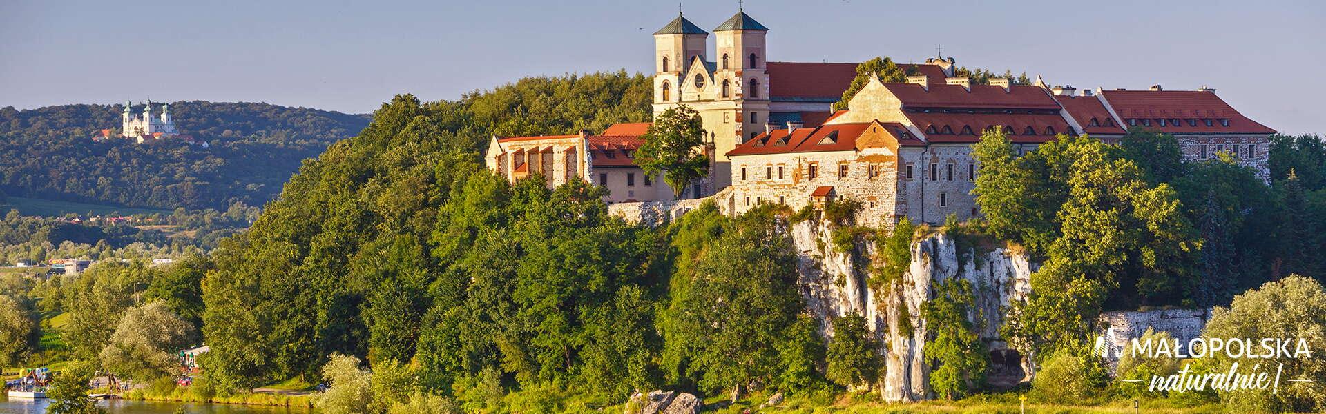
<svg viewBox="0 0 1326 414"><path fill-rule="evenodd" d="M915 69L931 78L931 85L944 84L944 69L939 65L899 64L903 70ZM815 100L837 102L857 78L857 64L768 62L769 97L773 101Z"/></svg>

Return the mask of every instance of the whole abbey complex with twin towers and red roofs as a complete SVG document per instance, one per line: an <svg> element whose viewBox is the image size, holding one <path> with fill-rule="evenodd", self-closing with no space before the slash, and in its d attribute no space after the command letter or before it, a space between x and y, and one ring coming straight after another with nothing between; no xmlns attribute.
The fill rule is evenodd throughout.
<svg viewBox="0 0 1326 414"><path fill-rule="evenodd" d="M1215 89L1074 89L956 76L952 57L899 64L906 82L869 82L833 110L857 64L769 60L764 27L744 12L709 33L678 16L654 33L654 114L687 105L700 113L709 176L683 198L723 192L741 212L760 203L800 208L834 198L862 203L858 223L890 226L902 216L939 223L980 214L971 191L979 166L972 145L1002 129L1020 151L1061 134L1111 141L1128 127L1172 134L1185 159L1225 153L1269 179L1276 131L1252 121ZM493 137L485 161L511 180L541 172L550 186L586 179L610 203L671 200L658 176L631 162L648 123L614 125L599 135ZM731 191L725 188L731 187Z"/></svg>

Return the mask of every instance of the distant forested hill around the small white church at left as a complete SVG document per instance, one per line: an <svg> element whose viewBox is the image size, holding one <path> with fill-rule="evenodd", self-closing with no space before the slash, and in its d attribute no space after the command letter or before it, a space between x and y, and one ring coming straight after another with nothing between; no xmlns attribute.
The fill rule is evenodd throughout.
<svg viewBox="0 0 1326 414"><path fill-rule="evenodd" d="M135 107L142 110L142 107ZM158 109L159 110L159 109ZM7 195L155 208L261 206L305 158L353 137L367 114L252 102L172 102L179 141L93 142L118 131L123 105L0 109L0 190Z"/></svg>

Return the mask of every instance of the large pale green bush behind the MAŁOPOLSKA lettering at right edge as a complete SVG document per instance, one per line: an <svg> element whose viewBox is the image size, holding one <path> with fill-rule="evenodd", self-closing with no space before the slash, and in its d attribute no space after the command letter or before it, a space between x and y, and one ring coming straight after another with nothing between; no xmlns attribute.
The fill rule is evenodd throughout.
<svg viewBox="0 0 1326 414"><path fill-rule="evenodd" d="M1303 338L1314 353L1311 358L1229 358L1215 353L1203 358L1195 372L1225 372L1233 362L1244 366L1260 364L1274 369L1284 364L1285 378L1323 378L1326 360L1315 353L1326 346L1321 332L1326 330L1326 292L1317 280L1289 276L1270 281L1257 289L1235 297L1229 308L1216 308L1201 332L1209 338ZM1290 345L1290 349L1297 344ZM1321 411L1326 409L1326 390L1321 386L1289 385L1281 382L1278 391L1270 389L1221 391L1220 401L1227 407L1241 411Z"/></svg>

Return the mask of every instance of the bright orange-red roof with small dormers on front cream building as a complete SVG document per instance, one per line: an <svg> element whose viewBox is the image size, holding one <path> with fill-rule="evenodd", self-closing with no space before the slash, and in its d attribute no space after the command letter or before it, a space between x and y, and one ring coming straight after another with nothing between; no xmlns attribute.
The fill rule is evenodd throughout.
<svg viewBox="0 0 1326 414"><path fill-rule="evenodd" d="M873 122L830 123L818 127L801 127L790 134L786 129L777 129L751 138L737 146L727 155L760 155L760 154L788 154L788 153L823 153L823 151L854 151L857 138L870 127ZM900 145L923 145L907 131L900 123L883 123L884 130L898 139Z"/></svg>

